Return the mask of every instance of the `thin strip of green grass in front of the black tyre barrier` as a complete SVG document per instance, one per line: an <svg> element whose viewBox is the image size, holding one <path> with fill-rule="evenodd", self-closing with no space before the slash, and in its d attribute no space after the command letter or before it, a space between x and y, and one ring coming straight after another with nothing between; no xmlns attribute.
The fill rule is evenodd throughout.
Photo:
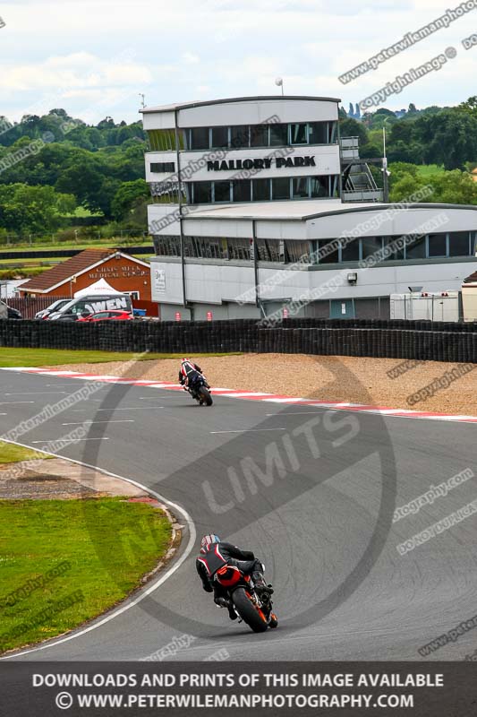
<svg viewBox="0 0 477 717"><path fill-rule="evenodd" d="M195 353L193 358L241 356L231 353ZM183 353L122 353L120 351L83 351L66 349L0 348L0 367L64 366L65 364L97 364L107 361L146 361L158 358L183 358Z"/></svg>

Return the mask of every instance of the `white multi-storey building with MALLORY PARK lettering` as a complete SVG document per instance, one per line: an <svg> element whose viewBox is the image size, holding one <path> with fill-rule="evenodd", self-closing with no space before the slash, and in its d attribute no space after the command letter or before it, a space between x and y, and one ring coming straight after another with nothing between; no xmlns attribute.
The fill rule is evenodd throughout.
<svg viewBox="0 0 477 717"><path fill-rule="evenodd" d="M338 99L145 108L152 298L164 320L389 317L477 270L477 207L345 202ZM346 194L346 196L345 196ZM376 193L360 192L360 199Z"/></svg>

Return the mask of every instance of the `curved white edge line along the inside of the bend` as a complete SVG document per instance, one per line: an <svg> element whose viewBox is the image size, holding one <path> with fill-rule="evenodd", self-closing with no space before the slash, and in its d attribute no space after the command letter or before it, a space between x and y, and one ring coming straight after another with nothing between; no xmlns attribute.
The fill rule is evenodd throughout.
<svg viewBox="0 0 477 717"><path fill-rule="evenodd" d="M18 441L10 441L7 439L4 439L5 443L12 443L14 445L21 445L23 448L30 448L30 445L26 445L24 443L18 443ZM39 450L39 449L38 449ZM179 559L174 563L173 566L171 566L168 570L166 570L166 573L161 575L161 577L158 578L158 580L155 583L151 583L148 588L145 588L143 591L141 591L141 594L138 595L137 598L134 598L134 600L131 600L131 602L128 602L124 604L121 608L116 609L114 612L110 613L106 616L106 618L98 619L98 622L93 623L93 625L89 625L88 627L85 627L83 630L79 630L78 632L74 633L73 635L66 635L66 637L60 637L60 639L52 638L53 642L48 644L42 644L38 647L32 647L30 650L22 650L13 652L11 655L6 655L5 657L0 657L0 660L12 660L19 655L27 655L30 652L39 652L40 650L47 650L50 647L56 647L58 644L68 643L70 640L75 640L77 637L81 637L81 635L85 635L86 633L91 632L91 630L96 630L97 627L101 627L103 625L106 625L106 623L110 622L111 620L114 620L119 615L122 615L126 610L129 610L130 608L135 608L136 605L138 605L144 598L148 597L152 592L155 592L162 583L166 583L166 580L175 573L176 570L179 569L180 566L183 565L183 562L187 560L187 558L191 555L192 549L195 544L196 539L196 531L195 531L195 524L192 521L192 517L187 513L185 508L182 507L182 505L178 505L177 503L173 503L172 500L167 500L164 496L161 496L159 493L157 493L155 490L152 490L152 488L148 488L147 486L144 486L142 483L139 483L137 480L132 480L131 478L124 478L124 476L119 476L117 473L112 473L111 471L106 471L104 468L98 468L96 465L90 465L89 463L84 463L82 461L76 461L74 458L67 458L64 455L61 454L52 454L49 451L40 451L42 454L47 455L53 455L55 458L63 458L65 461L70 461L72 463L76 463L77 465L82 465L85 468L91 468L93 471L101 471L106 476L110 476L110 478L117 478L120 480L125 480L126 483L131 483L132 486L136 486L137 488L141 488L141 490L144 490L146 493L149 493L150 496L155 496L158 498L158 500L162 501L166 505L169 505L169 507L172 509L173 513L176 511L177 513L180 513L183 515L183 518L185 522L187 523L187 526L189 528L189 542L187 543L187 548L184 549L183 555L179 557Z"/></svg>

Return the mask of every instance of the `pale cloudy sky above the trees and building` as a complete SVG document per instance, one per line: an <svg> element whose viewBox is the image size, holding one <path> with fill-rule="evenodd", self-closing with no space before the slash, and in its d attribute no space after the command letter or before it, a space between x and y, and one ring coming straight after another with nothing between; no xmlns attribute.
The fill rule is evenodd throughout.
<svg viewBox="0 0 477 717"><path fill-rule="evenodd" d="M456 105L477 94L477 0L467 2L475 8L447 28L345 84L340 75L459 0L0 0L0 115L64 108L89 123L131 122L140 93L149 107L274 95L277 77L285 94L347 109L447 48L456 57L374 108Z"/></svg>

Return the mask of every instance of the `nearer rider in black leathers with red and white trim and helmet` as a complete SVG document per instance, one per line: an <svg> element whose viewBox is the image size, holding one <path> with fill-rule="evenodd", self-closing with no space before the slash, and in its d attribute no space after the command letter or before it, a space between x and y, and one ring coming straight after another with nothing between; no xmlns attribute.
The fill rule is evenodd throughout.
<svg viewBox="0 0 477 717"><path fill-rule="evenodd" d="M206 592L214 592L214 601L221 607L228 608L232 620L237 618L234 606L226 600L226 590L217 581L214 575L225 565L237 566L244 574L251 574L255 590L261 597L264 593L273 592L271 586L263 579L264 566L251 550L242 550L232 543L222 542L217 535L204 535L200 541L200 556L195 561L197 572Z"/></svg>

